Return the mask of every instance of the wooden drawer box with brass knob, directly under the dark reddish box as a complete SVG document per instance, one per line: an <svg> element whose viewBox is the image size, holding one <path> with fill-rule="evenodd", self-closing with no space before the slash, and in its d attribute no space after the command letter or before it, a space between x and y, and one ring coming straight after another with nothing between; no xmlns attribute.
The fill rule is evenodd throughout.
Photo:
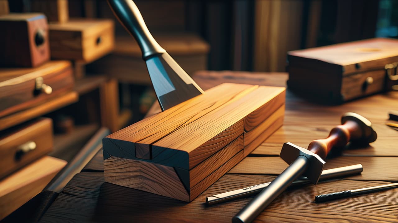
<svg viewBox="0 0 398 223"><path fill-rule="evenodd" d="M49 61L36 68L0 69L0 117L72 90L73 83L68 61Z"/></svg>

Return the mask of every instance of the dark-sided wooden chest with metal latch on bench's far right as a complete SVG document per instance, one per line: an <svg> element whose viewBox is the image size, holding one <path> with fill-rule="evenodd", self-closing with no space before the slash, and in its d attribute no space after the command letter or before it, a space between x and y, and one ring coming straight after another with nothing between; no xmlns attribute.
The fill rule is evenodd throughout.
<svg viewBox="0 0 398 223"><path fill-rule="evenodd" d="M373 38L295 50L287 58L289 89L310 99L340 104L389 90L385 68L398 62L398 40Z"/></svg>

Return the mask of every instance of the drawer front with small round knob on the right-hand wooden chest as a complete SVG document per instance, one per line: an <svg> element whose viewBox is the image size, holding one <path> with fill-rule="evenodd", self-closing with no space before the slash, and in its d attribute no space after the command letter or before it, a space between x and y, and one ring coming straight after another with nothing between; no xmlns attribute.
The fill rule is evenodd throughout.
<svg viewBox="0 0 398 223"><path fill-rule="evenodd" d="M351 100L384 90L386 71L377 70L343 77L341 95L343 100Z"/></svg>

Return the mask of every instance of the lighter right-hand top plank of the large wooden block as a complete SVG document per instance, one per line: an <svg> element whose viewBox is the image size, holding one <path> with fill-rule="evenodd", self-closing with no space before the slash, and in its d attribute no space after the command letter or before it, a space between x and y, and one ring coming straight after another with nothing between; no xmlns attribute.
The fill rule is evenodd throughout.
<svg viewBox="0 0 398 223"><path fill-rule="evenodd" d="M213 110L208 114L193 121L191 125L186 125L170 133L152 145L152 156L163 156L167 159L169 154L164 148L184 151L190 155L193 150L198 152L198 147L224 131L227 127L244 119L252 111L273 100L275 96L284 92L284 88L278 87L258 87L252 92L248 92L239 100L227 104L219 110ZM194 131L201 129L201 131ZM178 138L178 140L176 140ZM187 147L186 145L190 146ZM181 157L182 161L185 157ZM206 158L203 156L203 158ZM170 158L169 158L170 159ZM185 169L187 169L185 167Z"/></svg>

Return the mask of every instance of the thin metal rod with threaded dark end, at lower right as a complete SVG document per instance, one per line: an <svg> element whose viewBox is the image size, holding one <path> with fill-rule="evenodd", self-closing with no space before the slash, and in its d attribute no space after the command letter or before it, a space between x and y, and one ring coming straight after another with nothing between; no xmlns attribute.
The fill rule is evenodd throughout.
<svg viewBox="0 0 398 223"><path fill-rule="evenodd" d="M388 190L392 188L398 187L398 183L392 183L392 184L386 184L386 185L380 185L380 186L371 186L371 187L366 187L366 188L360 188L360 189L355 189L355 190L344 190L344 191L339 191L339 192L334 192L330 194L321 194L315 196L315 202L324 202L328 200L335 200L339 198L346 198L349 196L355 196L355 195L360 195L360 194L369 194L373 192L378 192L381 190Z"/></svg>

